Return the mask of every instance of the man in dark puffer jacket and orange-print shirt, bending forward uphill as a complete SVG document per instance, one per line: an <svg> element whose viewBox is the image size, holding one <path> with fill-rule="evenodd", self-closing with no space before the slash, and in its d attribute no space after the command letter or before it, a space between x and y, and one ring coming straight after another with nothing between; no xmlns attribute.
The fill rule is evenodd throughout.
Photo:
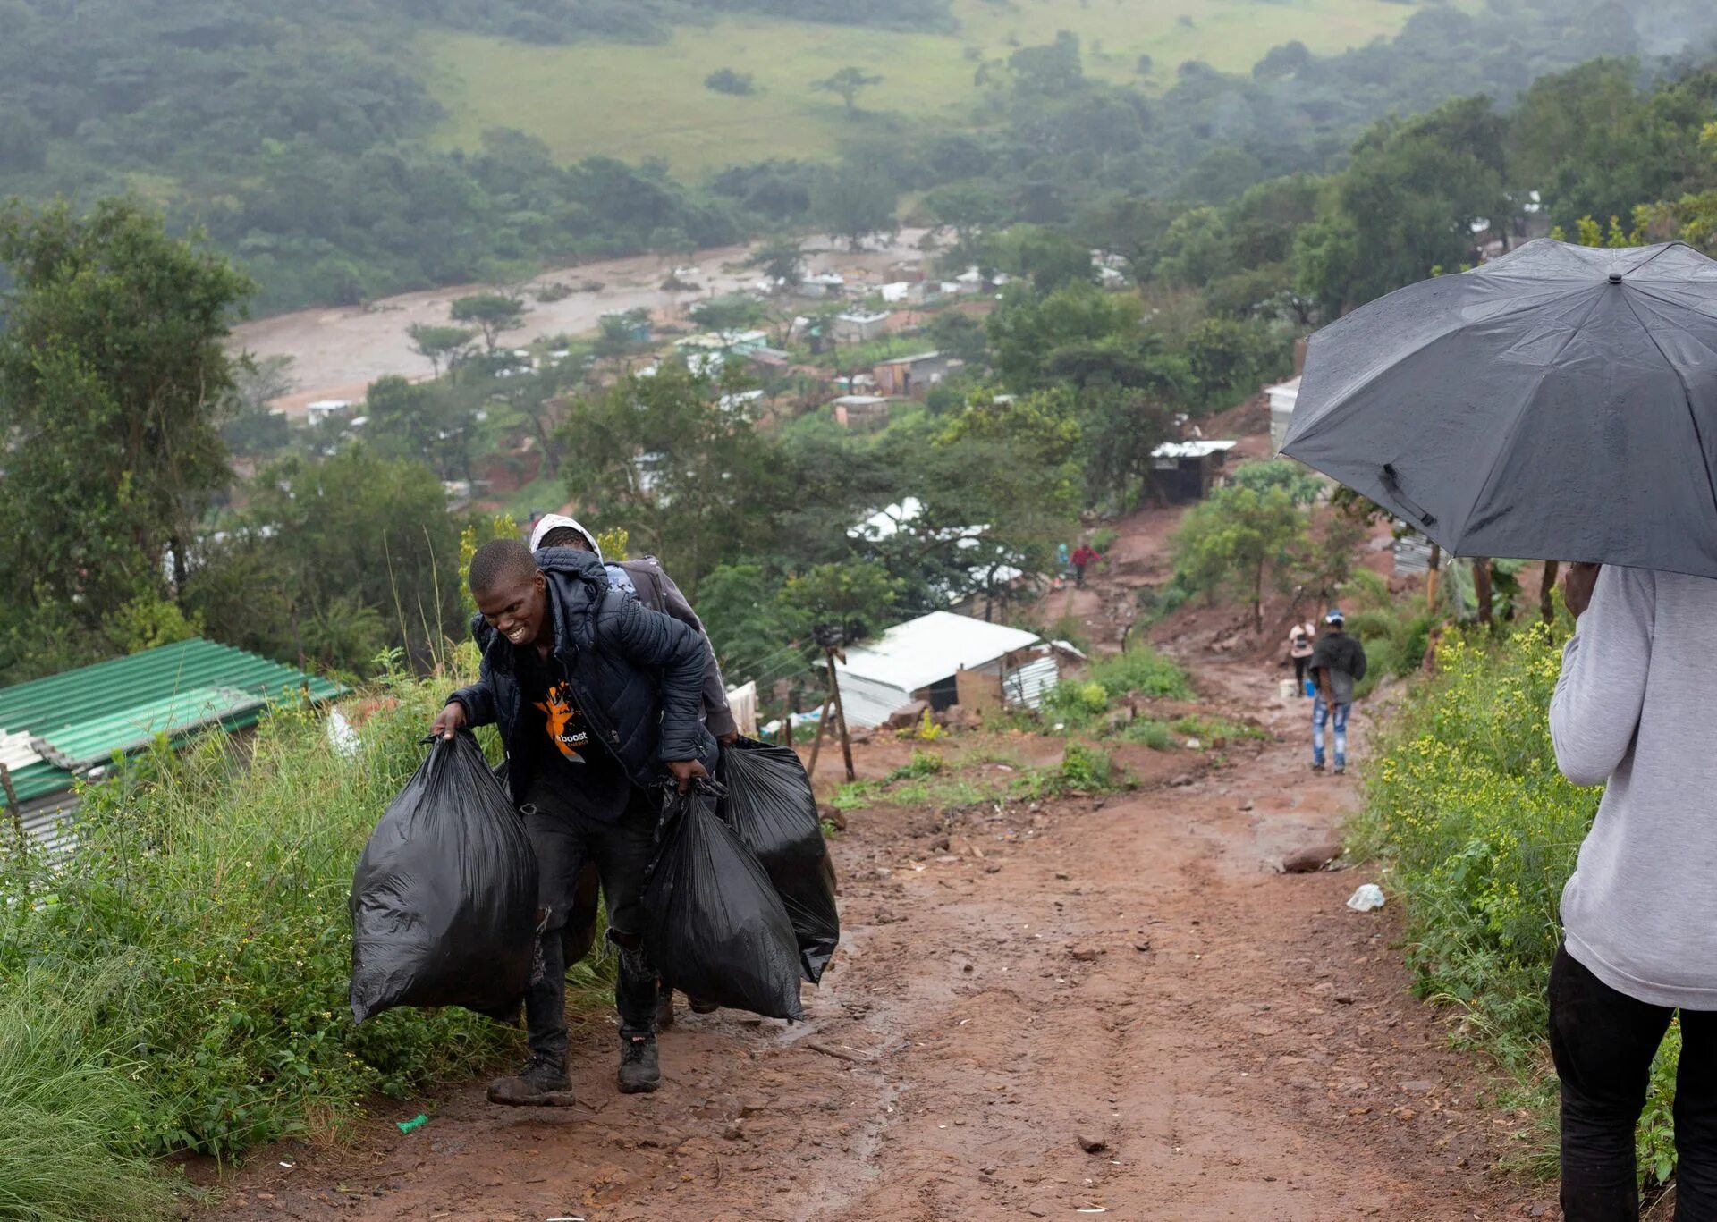
<svg viewBox="0 0 1717 1222"><path fill-rule="evenodd" d="M531 1059L494 1081L489 1100L572 1102L561 927L587 862L601 877L620 958L620 1090L656 1090L656 971L639 910L656 827L649 789L671 777L683 791L714 765L716 741L699 716L702 642L616 590L594 553L532 556L517 539L496 539L472 556L470 592L479 680L448 699L433 729L500 728L541 877L537 965L525 994Z"/></svg>

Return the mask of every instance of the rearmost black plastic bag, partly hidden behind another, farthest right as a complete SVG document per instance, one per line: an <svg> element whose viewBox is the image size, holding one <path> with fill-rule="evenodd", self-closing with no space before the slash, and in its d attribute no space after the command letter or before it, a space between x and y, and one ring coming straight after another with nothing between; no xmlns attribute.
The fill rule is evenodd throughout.
<svg viewBox="0 0 1717 1222"><path fill-rule="evenodd" d="M817 983L841 941L841 916L805 765L790 747L740 738L721 748L721 784L728 793L719 810L769 872L793 922L805 980Z"/></svg>

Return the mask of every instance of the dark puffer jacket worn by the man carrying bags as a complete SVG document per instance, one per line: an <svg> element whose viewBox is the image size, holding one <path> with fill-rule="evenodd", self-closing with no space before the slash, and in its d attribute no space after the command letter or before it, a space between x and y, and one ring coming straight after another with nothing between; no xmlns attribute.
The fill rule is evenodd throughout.
<svg viewBox="0 0 1717 1222"><path fill-rule="evenodd" d="M716 740L699 717L704 640L692 628L640 606L608 585L603 561L585 551L537 553L555 618L555 656L567 668L591 736L625 767L632 783L651 786L670 760L701 760L714 772ZM472 726L500 726L513 796L531 789L534 752L520 750L519 680L513 644L474 616L470 635L482 650L481 678L450 700Z"/></svg>

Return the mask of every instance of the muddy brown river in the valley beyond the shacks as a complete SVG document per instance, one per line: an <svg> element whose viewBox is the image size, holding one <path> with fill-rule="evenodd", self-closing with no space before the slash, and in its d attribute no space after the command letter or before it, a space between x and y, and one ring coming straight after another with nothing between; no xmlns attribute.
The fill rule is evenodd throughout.
<svg viewBox="0 0 1717 1222"><path fill-rule="evenodd" d="M810 240L805 247L805 273L841 271L879 278L889 263L919 257L917 242L922 237L924 230L901 230L891 244L872 242L860 254L852 254L829 239ZM529 304L524 326L508 331L503 340L508 345L525 345L555 335L585 335L598 328L604 312L616 309L646 309L659 319L678 318L699 299L754 283L757 269L740 266L749 252L743 245L699 251L689 261L694 271L685 276L695 290L682 292L661 287L666 269L654 256L603 259L546 271L522 287ZM558 302L536 302L532 290L553 281L598 283L601 288L580 290ZM295 386L276 405L297 415L319 398L361 400L369 383L388 374L428 378L429 360L412 350L405 330L412 323L446 323L453 299L489 288L453 285L388 297L369 306L276 314L234 328L232 347L256 357L292 357Z"/></svg>

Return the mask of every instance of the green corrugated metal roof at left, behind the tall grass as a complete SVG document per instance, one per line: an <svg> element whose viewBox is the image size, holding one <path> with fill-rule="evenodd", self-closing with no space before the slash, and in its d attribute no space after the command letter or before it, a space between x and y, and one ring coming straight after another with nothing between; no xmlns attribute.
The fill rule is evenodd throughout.
<svg viewBox="0 0 1717 1222"><path fill-rule="evenodd" d="M19 802L72 786L86 769L132 752L156 735L182 738L204 726L240 729L270 702L331 700L325 678L213 640L182 640L130 657L0 688L0 729L27 733L43 755L12 772Z"/></svg>

